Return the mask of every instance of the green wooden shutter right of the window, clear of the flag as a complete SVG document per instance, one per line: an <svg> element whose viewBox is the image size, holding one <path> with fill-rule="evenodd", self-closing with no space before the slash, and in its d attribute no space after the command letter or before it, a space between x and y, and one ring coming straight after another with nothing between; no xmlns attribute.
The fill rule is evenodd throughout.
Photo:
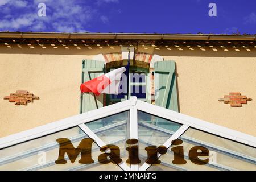
<svg viewBox="0 0 256 182"><path fill-rule="evenodd" d="M155 77L158 77L158 79L155 79L155 88L158 88L158 90L155 90L157 92L155 104L179 112L175 61L155 62L154 69Z"/></svg>

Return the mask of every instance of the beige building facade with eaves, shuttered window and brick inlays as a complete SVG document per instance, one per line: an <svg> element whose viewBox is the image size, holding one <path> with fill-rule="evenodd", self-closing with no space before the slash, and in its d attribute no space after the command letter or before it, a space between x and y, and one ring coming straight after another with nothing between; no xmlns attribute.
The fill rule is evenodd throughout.
<svg viewBox="0 0 256 182"><path fill-rule="evenodd" d="M134 96L256 136L255 35L0 32L0 42L0 137ZM128 55L128 96L80 93L81 83L127 65ZM90 129L108 126L107 120ZM179 129L164 122L158 127ZM255 169L253 149L253 166L244 169Z"/></svg>

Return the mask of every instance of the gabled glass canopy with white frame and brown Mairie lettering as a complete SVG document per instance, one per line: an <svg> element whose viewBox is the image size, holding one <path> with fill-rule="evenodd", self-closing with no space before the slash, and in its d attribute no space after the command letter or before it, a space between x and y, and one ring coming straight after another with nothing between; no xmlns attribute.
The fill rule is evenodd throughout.
<svg viewBox="0 0 256 182"><path fill-rule="evenodd" d="M130 100L0 138L0 170L256 170L256 137Z"/></svg>

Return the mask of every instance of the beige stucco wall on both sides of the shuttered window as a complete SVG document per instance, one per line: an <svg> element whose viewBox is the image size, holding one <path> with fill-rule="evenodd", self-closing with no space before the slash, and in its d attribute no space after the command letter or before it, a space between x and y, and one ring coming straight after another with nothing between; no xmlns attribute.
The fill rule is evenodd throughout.
<svg viewBox="0 0 256 182"><path fill-rule="evenodd" d="M0 137L79 114L82 59L120 51L119 47L10 46L0 46ZM255 48L204 49L138 48L176 61L181 113L256 136ZM27 106L3 100L16 90L28 90L40 100ZM253 101L242 107L218 102L229 92L241 92Z"/></svg>

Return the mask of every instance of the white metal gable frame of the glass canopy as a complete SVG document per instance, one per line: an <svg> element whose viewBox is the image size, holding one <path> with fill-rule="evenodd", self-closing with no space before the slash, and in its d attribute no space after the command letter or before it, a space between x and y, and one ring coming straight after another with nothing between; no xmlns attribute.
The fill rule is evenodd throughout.
<svg viewBox="0 0 256 182"><path fill-rule="evenodd" d="M57 131L69 129L71 127L79 126L90 138L96 141L99 147L105 145L100 138L97 137L92 130L84 123L94 121L100 118L108 117L109 115L117 114L122 111L130 111L130 138L138 139L138 110L146 113L154 114L158 117L168 119L182 126L177 130L163 145L167 148L171 146L171 141L179 138L189 127L198 130L206 131L210 134L218 135L227 139L234 140L252 147L256 147L256 137L247 135L226 127L218 126L213 123L203 121L201 119L189 117L188 115L177 113L172 110L165 109L160 106L148 104L146 102L137 100L136 97L131 97L130 100L122 101L117 104L102 107L100 109L92 110L87 113L75 115L73 117L61 119L60 121L52 122L47 125L39 126L34 129L23 131L14 135L0 138L0 150L5 147L13 146L14 144L26 142L27 140L43 137L44 135L52 134ZM135 129L135 130L134 130ZM137 129L137 130L136 130ZM109 151L106 151L109 152ZM160 154L158 155L160 157ZM140 168L139 164L133 164L130 167L122 162L118 164L123 170L146 170L150 164L144 163Z"/></svg>

